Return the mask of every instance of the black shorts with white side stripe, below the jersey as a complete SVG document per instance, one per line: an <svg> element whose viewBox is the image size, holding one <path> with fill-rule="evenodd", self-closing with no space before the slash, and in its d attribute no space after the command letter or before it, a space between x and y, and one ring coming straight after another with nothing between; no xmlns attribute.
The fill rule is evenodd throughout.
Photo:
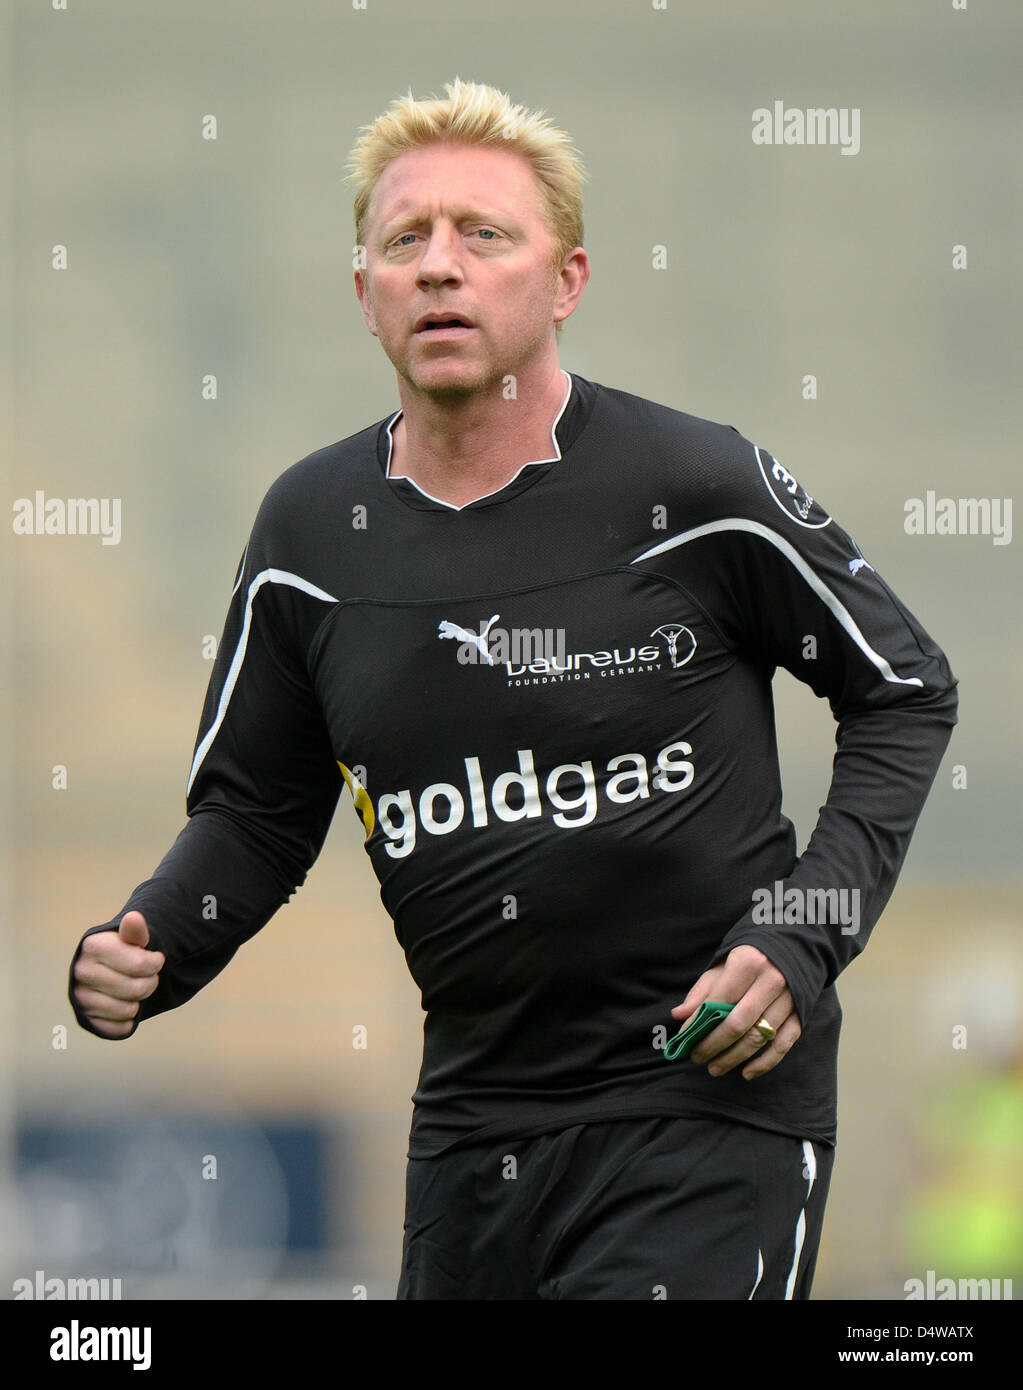
<svg viewBox="0 0 1023 1390"><path fill-rule="evenodd" d="M410 1159L398 1297L808 1298L833 1162L705 1118Z"/></svg>

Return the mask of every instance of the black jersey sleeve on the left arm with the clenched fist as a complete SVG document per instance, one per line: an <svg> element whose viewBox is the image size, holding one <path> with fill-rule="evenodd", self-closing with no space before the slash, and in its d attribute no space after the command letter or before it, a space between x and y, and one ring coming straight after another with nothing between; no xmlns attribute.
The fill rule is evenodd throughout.
<svg viewBox="0 0 1023 1390"><path fill-rule="evenodd" d="M335 600L275 563L289 550L275 512L271 489L238 567L210 676L188 823L121 910L85 933L117 930L133 909L145 915L150 949L167 963L135 1027L190 999L302 885L343 785L306 667L309 639ZM96 1033L74 994L71 1006Z"/></svg>

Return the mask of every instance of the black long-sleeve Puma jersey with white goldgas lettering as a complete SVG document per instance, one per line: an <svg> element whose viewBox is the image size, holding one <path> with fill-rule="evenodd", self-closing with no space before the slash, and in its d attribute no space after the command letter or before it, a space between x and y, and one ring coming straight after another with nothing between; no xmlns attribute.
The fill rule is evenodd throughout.
<svg viewBox="0 0 1023 1390"><path fill-rule="evenodd" d="M892 891L955 678L770 453L564 381L552 457L467 506L388 475L400 411L278 478L188 824L93 930L143 912L167 965L139 1020L183 1004L303 883L347 784L423 991L413 1156L692 1113L830 1144L834 980ZM778 666L838 721L802 856ZM783 972L803 1027L752 1084L660 1051L669 1011L741 944Z"/></svg>

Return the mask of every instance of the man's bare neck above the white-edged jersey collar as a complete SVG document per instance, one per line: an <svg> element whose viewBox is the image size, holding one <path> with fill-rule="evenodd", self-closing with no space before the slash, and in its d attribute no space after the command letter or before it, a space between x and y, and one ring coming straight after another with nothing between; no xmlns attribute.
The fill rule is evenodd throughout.
<svg viewBox="0 0 1023 1390"><path fill-rule="evenodd" d="M567 391L557 361L546 381L520 382L512 399L500 385L456 402L400 389L402 418L391 431L388 477L410 478L457 507L499 492L527 463L553 457L552 428Z"/></svg>

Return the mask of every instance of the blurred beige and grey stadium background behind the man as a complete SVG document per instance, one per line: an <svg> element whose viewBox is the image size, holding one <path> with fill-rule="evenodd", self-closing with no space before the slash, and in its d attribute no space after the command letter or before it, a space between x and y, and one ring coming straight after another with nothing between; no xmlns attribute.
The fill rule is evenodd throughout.
<svg viewBox="0 0 1023 1390"><path fill-rule="evenodd" d="M306 887L185 1011L104 1044L65 988L183 821L203 638L263 492L398 403L343 161L393 96L456 74L582 150L594 275L563 364L771 449L960 678L901 885L840 986L815 1297L1023 1279L1019 542L903 530L908 498L1019 477L1022 36L1012 0L15 0L6 491L121 498L124 535L4 545L0 1297L38 1269L124 1297L393 1297L421 1013L347 796ZM776 99L860 108L860 152L755 146ZM802 844L833 724L787 676L777 698Z"/></svg>

